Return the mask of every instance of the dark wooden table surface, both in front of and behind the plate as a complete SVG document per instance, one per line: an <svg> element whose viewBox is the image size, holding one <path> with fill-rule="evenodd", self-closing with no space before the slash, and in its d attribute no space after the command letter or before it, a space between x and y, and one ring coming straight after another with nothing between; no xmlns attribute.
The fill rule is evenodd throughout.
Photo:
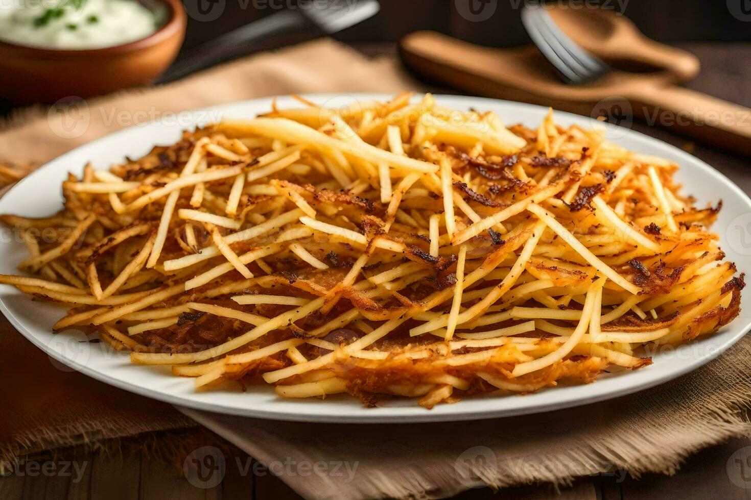
<svg viewBox="0 0 751 500"><path fill-rule="evenodd" d="M751 106L751 44L681 43L701 59L702 72L690 88ZM359 46L369 54L394 54L393 44ZM440 90L440 89L436 89ZM636 123L633 128L686 148L751 193L751 160L689 142L666 130ZM210 443L207 443L210 444ZM0 478L0 500L192 500L296 499L282 481L252 471L250 457L238 454L227 461L222 481L211 488L196 487L179 466L149 460L143 452L109 454L95 451L72 463L40 460ZM178 464L179 465L179 464ZM251 466L250 469L248 466ZM63 470L65 467L65 471ZM689 457L677 475L630 478L622 472L581 478L556 492L549 485L511 488L493 493L472 490L460 499L751 499L751 439L735 439ZM741 486L738 486L740 484Z"/></svg>

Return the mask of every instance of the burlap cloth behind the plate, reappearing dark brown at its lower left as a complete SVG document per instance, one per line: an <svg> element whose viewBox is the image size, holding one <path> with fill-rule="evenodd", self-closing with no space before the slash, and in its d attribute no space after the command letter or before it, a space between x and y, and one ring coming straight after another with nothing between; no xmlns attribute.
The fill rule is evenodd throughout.
<svg viewBox="0 0 751 500"><path fill-rule="evenodd" d="M74 127L47 109L0 125L0 164L33 169L65 151L149 118L291 92L398 92L415 88L395 61L370 60L333 40L246 58L160 88L87 100ZM85 127L78 127L84 124ZM50 448L195 426L169 405L70 372L0 317L0 473L17 457Z"/></svg>

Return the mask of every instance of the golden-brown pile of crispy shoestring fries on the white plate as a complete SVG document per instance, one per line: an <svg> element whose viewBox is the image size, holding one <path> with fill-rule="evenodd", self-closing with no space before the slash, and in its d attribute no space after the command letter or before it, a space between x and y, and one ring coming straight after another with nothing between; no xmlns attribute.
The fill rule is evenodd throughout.
<svg viewBox="0 0 751 500"><path fill-rule="evenodd" d="M719 206L681 195L677 165L552 113L507 128L412 97L298 98L86 166L59 214L3 217L34 277L0 283L197 388L428 408L644 367L737 316Z"/></svg>

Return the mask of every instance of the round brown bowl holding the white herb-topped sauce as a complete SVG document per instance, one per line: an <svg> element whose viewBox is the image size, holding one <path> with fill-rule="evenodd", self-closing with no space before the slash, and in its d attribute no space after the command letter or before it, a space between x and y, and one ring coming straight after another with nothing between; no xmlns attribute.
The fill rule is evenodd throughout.
<svg viewBox="0 0 751 500"><path fill-rule="evenodd" d="M8 33L0 33L0 97L7 101L7 108L12 104L52 103L62 97L90 97L146 85L174 60L185 34L186 16L180 0L150 0L145 12L153 16L154 25L146 28L148 36L125 38L124 43L118 43L112 31L128 31L127 23L137 18L116 17L124 13L113 13L107 0L101 1L97 13L83 11L86 18L82 22L74 19L85 8L83 4L77 8L44 7L47 4L28 1L28 9L23 3L0 5L0 19L5 21L5 28L0 29L11 31L14 25L30 25L28 30L19 29L22 36L12 41ZM15 12L9 12L14 8ZM104 29L86 32L101 25ZM37 31L41 35L44 31L50 33L37 40L24 39ZM65 40L71 33L81 34L79 40ZM71 45L71 41L78 44Z"/></svg>

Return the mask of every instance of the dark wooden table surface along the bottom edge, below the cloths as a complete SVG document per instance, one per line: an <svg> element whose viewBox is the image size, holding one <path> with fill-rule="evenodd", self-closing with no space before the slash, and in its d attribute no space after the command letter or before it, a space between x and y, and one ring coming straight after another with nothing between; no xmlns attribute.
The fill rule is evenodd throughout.
<svg viewBox="0 0 751 500"><path fill-rule="evenodd" d="M213 445L215 443L207 443ZM20 472L0 478L2 500L288 500L300 499L278 478L253 475L252 459L244 454L225 457L226 469L216 486L185 479L179 464L149 459L146 452L93 452L71 462L39 460L27 463ZM728 475L727 466L737 466ZM558 492L550 485L530 485L493 492L470 490L461 500L742 500L751 490L733 481L749 481L751 439L731 442L701 451L689 458L673 477L645 475L639 480L625 472L581 478ZM34 466L32 467L32 464ZM46 469L48 468L48 469ZM47 470L48 472L45 472ZM56 472L57 471L57 472ZM741 472L743 471L743 472ZM740 472L740 473L739 473Z"/></svg>

